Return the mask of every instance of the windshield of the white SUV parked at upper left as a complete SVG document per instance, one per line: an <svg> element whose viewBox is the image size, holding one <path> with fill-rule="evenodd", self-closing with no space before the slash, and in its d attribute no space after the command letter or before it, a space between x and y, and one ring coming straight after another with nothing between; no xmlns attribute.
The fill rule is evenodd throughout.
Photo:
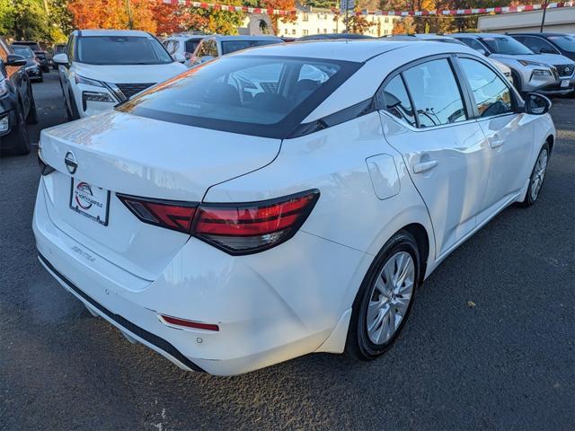
<svg viewBox="0 0 575 431"><path fill-rule="evenodd" d="M75 48L76 61L89 65L165 65L168 51L152 36L83 36Z"/></svg>

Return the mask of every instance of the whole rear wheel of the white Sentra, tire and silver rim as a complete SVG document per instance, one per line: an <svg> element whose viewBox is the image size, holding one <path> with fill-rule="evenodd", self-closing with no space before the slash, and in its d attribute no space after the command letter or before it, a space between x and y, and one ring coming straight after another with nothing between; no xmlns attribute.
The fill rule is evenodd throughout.
<svg viewBox="0 0 575 431"><path fill-rule="evenodd" d="M405 277L400 283L394 283L394 276L401 275L403 269L406 269ZM364 361L383 355L403 330L419 284L417 242L411 233L395 233L377 254L359 287L349 322L345 354ZM387 294L384 295L384 291Z"/></svg>

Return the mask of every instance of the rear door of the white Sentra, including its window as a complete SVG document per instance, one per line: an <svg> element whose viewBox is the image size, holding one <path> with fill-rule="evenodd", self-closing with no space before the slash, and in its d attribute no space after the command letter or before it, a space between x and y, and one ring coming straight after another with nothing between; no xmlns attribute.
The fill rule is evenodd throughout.
<svg viewBox="0 0 575 431"><path fill-rule="evenodd" d="M470 115L453 59L404 67L382 85L385 137L403 154L429 210L438 256L475 227L489 172L489 146Z"/></svg>

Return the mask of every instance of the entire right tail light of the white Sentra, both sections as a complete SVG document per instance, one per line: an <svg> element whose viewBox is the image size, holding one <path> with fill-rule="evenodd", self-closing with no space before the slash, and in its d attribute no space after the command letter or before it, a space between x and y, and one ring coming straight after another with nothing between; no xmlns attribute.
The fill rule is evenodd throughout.
<svg viewBox="0 0 575 431"><path fill-rule="evenodd" d="M195 204L118 195L144 223L190 233L233 255L270 249L294 236L319 190L241 204Z"/></svg>

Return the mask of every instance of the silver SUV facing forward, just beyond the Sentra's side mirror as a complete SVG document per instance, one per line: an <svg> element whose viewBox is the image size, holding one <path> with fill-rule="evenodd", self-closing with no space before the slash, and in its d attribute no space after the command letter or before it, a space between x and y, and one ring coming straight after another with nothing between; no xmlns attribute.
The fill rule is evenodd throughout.
<svg viewBox="0 0 575 431"><path fill-rule="evenodd" d="M525 45L502 34L456 33L450 36L509 66L513 83L519 92L558 96L571 94L575 88L575 78L572 75L562 75L566 68L573 66L567 57L535 55Z"/></svg>

